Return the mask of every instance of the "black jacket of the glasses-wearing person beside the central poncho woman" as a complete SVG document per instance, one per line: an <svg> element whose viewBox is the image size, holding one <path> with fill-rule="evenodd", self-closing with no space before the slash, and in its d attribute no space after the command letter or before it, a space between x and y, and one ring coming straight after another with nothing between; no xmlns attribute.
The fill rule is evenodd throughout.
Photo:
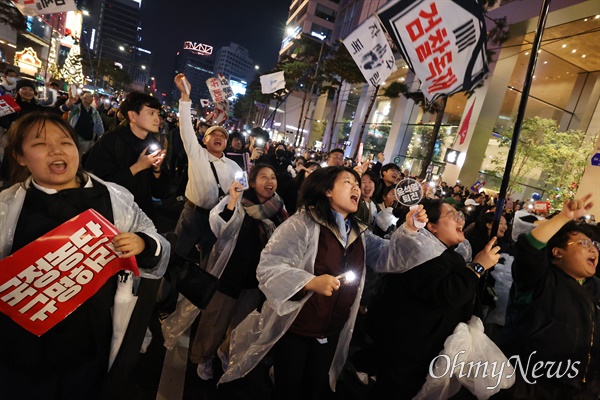
<svg viewBox="0 0 600 400"><path fill-rule="evenodd" d="M381 292L367 314L378 348L378 386L387 385L393 398L416 395L446 338L470 319L478 282L453 248L407 272L382 277Z"/></svg>

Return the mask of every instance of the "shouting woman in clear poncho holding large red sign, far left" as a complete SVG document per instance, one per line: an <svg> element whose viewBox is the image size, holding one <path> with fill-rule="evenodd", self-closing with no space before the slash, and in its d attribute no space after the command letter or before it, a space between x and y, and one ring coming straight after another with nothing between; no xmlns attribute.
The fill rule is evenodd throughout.
<svg viewBox="0 0 600 400"><path fill-rule="evenodd" d="M168 262L169 243L157 234L152 221L134 203L131 193L81 169L77 134L66 121L58 115L30 113L16 121L7 135L7 154L12 155L15 184L0 192L0 260L93 208L120 232L101 245L106 254L119 255L110 262L135 257L141 276L161 277ZM116 394L110 392L113 375L127 379L120 375L118 355L108 372L113 336L111 307L118 278L112 273L105 275L111 270L103 269L97 258L92 259L93 253L84 256L83 247L79 252L71 246L71 241L83 240L80 235L64 239L65 246L61 250L46 254L29 264L30 267L25 266L27 272L19 276L30 277L27 279L33 284L24 296L44 285L48 285L48 289L43 294L56 297L75 282L83 285L87 279L102 278L106 279L105 283L77 307L68 301L56 303L57 307L73 309L39 337L0 314L0 384L6 398L115 398ZM44 246L43 242L39 246ZM69 261L68 265L61 262L55 266L57 262L51 260L62 257L63 253L71 254L70 249L75 251L73 254L81 255L80 262ZM104 268L109 265L112 264ZM70 271L70 275L54 281L51 290L49 282L65 271ZM44 273L47 278L40 281ZM86 279L77 275L82 273ZM4 282L5 277L2 279ZM2 302L13 295L12 292L7 294L7 288L5 284L0 285ZM18 307L20 312L24 308Z"/></svg>

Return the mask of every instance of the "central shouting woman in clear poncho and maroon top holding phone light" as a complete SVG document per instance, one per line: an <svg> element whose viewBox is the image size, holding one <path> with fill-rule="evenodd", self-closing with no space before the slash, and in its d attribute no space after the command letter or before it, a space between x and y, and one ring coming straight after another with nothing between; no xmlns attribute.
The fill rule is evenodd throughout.
<svg viewBox="0 0 600 400"><path fill-rule="evenodd" d="M300 211L263 250L256 275L266 301L234 330L220 383L245 376L272 351L274 399L318 399L328 383L335 389L365 264L377 269L387 253L388 242L354 217L359 199L360 178L349 168L322 168L306 179Z"/></svg>

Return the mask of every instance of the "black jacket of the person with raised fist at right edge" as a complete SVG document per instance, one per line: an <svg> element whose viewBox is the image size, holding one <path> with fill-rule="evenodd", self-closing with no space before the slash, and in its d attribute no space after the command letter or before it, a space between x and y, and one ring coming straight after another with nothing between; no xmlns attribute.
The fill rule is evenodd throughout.
<svg viewBox="0 0 600 400"><path fill-rule="evenodd" d="M506 325L501 347L507 357L519 355L530 367L538 361L555 362L555 371L570 365L572 377L539 378L529 385L523 379L510 390L513 398L589 398L600 395L600 280L586 279L580 285L549 261L546 248L537 249L531 235L521 235L512 266ZM578 364L573 367L574 363ZM546 364L546 367L549 365ZM525 367L524 367L525 368ZM577 373L575 374L575 370ZM542 370L543 376L546 375ZM540 372L538 372L539 374ZM576 376L575 376L576 375ZM532 377L528 379L532 382ZM533 379L535 380L535 379ZM544 390L551 387L552 390ZM538 392L542 391L543 392ZM542 394L543 393L543 394ZM548 397L548 393L552 393ZM542 396L542 397L540 397ZM576 397L581 396L581 397Z"/></svg>

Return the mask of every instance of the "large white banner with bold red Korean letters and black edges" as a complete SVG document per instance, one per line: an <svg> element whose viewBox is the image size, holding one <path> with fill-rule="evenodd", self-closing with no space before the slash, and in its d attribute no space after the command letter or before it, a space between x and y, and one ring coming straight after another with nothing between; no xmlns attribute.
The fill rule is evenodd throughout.
<svg viewBox="0 0 600 400"><path fill-rule="evenodd" d="M470 90L487 75L478 0L395 0L377 14L429 101Z"/></svg>

